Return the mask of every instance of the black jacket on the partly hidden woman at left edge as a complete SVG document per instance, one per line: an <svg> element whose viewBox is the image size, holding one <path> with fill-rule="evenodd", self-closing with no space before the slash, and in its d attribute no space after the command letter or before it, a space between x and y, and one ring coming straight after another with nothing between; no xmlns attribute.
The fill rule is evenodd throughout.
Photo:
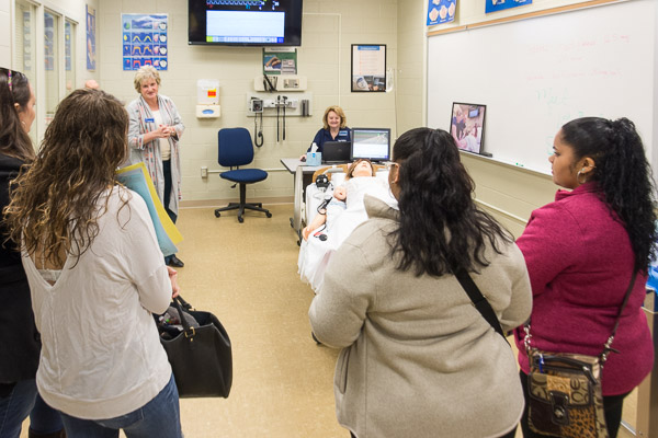
<svg viewBox="0 0 658 438"><path fill-rule="evenodd" d="M22 164L0 153L0 211L9 204L9 182ZM5 239L7 228L0 224L0 383L12 383L36 376L41 339L21 255Z"/></svg>

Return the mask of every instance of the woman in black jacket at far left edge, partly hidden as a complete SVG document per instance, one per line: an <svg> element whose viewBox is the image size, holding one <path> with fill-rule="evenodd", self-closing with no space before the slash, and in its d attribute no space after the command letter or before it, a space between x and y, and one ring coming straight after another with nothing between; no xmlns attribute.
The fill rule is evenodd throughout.
<svg viewBox="0 0 658 438"><path fill-rule="evenodd" d="M29 132L35 118L34 90L20 71L0 68L0 211L11 181L34 160ZM38 396L34 376L41 339L34 325L30 286L15 243L0 223L0 437L18 438L30 415L30 438L64 434L59 413Z"/></svg>

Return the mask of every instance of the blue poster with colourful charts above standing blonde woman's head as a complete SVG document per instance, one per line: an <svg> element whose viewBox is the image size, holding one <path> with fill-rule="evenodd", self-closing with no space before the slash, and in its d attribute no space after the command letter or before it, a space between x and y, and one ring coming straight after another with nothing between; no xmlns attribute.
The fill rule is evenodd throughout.
<svg viewBox="0 0 658 438"><path fill-rule="evenodd" d="M167 16L167 14L121 14L124 71L138 70L141 66L167 70L169 66Z"/></svg>

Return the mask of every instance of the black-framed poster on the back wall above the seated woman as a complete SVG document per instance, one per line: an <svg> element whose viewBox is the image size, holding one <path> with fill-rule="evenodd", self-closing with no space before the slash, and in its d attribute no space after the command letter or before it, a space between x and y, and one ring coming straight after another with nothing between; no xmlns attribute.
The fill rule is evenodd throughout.
<svg viewBox="0 0 658 438"><path fill-rule="evenodd" d="M386 91L386 45L352 44L352 92Z"/></svg>

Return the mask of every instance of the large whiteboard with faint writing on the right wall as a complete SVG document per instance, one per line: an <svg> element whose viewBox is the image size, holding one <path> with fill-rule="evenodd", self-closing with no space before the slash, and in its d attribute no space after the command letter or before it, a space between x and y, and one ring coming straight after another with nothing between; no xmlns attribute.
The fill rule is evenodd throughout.
<svg viewBox="0 0 658 438"><path fill-rule="evenodd" d="M628 117L651 162L657 4L632 0L431 36L428 126L447 130L453 102L487 105L484 150L549 174L553 140L566 122Z"/></svg>

